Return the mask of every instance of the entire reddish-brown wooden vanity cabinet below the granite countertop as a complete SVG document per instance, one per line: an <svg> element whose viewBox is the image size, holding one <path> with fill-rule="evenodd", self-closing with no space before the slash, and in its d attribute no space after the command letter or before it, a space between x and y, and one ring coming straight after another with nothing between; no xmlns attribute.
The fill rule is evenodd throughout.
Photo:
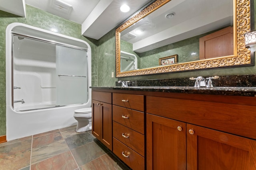
<svg viewBox="0 0 256 170"><path fill-rule="evenodd" d="M92 134L133 170L256 170L255 97L129 93L92 91Z"/></svg>

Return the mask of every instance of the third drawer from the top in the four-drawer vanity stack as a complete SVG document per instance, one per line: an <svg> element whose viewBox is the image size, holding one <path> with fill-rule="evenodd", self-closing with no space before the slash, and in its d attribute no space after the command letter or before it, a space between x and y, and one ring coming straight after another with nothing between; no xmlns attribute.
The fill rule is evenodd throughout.
<svg viewBox="0 0 256 170"><path fill-rule="evenodd" d="M113 137L144 156L144 135L113 121Z"/></svg>

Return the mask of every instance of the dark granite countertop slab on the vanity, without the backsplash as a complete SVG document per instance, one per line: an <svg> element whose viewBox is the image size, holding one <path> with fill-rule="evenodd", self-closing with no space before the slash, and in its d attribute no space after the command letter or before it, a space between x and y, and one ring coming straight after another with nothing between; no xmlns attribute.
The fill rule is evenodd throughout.
<svg viewBox="0 0 256 170"><path fill-rule="evenodd" d="M256 96L256 87L214 87L214 88L195 88L189 86L104 86L91 87L92 89L110 90L133 90L144 92L169 92L169 93L190 93L190 94L214 94L228 96Z"/></svg>

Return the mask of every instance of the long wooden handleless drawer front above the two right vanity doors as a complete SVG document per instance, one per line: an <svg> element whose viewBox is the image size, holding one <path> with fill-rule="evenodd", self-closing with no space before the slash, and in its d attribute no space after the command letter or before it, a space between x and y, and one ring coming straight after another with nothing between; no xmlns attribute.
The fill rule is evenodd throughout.
<svg viewBox="0 0 256 170"><path fill-rule="evenodd" d="M146 101L147 113L256 139L255 106L153 96Z"/></svg>

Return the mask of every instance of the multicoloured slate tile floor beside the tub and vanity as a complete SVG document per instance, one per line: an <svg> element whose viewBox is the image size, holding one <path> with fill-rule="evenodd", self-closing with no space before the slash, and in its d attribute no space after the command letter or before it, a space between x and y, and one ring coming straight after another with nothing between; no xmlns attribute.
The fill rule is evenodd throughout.
<svg viewBox="0 0 256 170"><path fill-rule="evenodd" d="M0 170L129 170L91 131L75 129L0 143Z"/></svg>

